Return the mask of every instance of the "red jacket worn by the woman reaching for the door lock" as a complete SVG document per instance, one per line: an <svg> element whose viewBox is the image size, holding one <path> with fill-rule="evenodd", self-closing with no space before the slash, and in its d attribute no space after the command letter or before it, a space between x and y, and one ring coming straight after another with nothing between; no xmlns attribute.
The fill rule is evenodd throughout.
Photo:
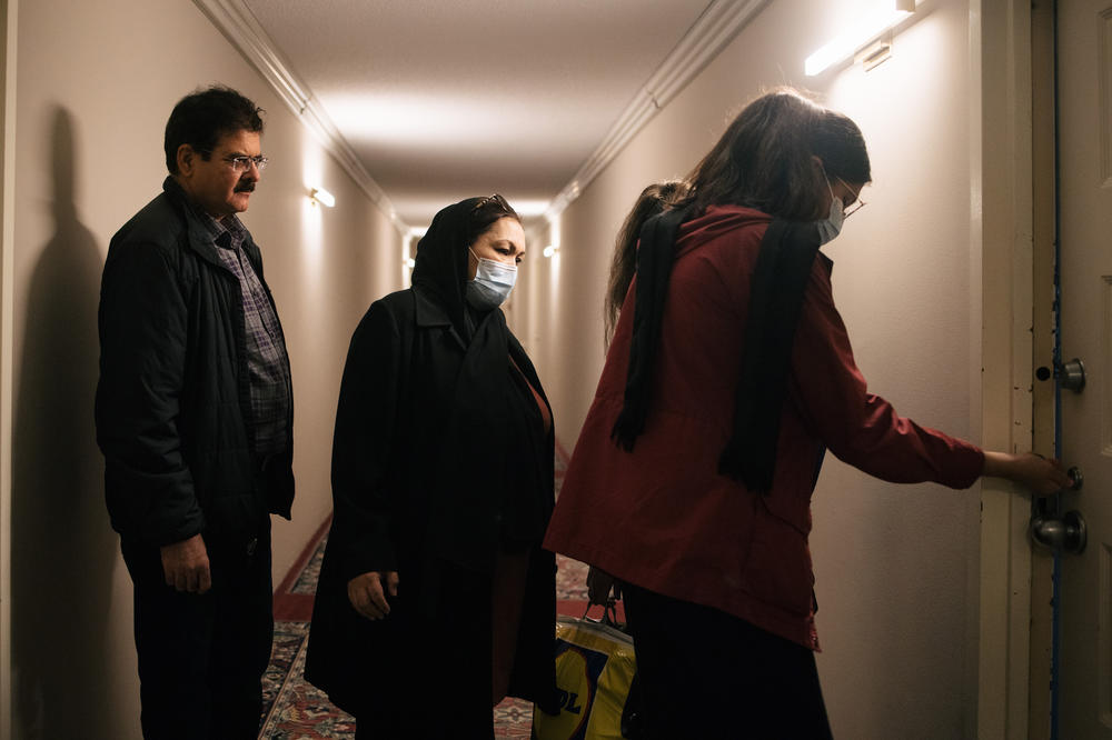
<svg viewBox="0 0 1112 740"><path fill-rule="evenodd" d="M807 534L824 448L884 480L951 488L972 486L984 454L868 392L834 308L831 262L820 256L796 329L772 490L751 493L717 473L733 429L749 278L771 220L712 207L682 227L645 431L625 452L610 429L625 390L631 288L545 547L817 649Z"/></svg>

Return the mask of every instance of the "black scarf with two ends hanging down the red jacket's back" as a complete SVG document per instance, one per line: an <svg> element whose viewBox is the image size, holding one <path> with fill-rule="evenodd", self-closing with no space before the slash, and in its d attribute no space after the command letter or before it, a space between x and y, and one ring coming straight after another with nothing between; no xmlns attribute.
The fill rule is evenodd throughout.
<svg viewBox="0 0 1112 740"><path fill-rule="evenodd" d="M629 368L624 406L612 431L615 442L627 451L645 429L676 236L688 217L686 210L666 211L641 230ZM718 459L718 472L752 491L772 488L795 327L818 247L813 223L778 219L761 241L749 287L733 432Z"/></svg>

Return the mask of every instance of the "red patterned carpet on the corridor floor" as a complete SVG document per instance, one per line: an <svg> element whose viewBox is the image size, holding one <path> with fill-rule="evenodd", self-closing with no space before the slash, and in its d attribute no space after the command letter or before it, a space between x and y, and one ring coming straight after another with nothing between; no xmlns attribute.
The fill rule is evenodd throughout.
<svg viewBox="0 0 1112 740"><path fill-rule="evenodd" d="M563 482L566 457L556 457L556 490ZM304 678L306 638L312 614L320 560L325 551L328 522L275 592L275 642L270 666L264 677L260 739L351 740L355 720L337 709L324 692ZM556 557L556 610L582 617L587 604L587 567L563 556ZM506 699L494 709L495 737L528 738L533 704Z"/></svg>

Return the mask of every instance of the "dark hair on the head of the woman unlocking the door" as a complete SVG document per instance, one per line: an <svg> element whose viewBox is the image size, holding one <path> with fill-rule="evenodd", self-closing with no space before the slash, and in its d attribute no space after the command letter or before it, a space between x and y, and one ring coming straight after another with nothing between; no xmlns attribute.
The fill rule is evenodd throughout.
<svg viewBox="0 0 1112 740"><path fill-rule="evenodd" d="M737 114L688 176L695 212L734 204L791 221L820 219L825 187L813 157L831 182L872 179L856 123L792 88L768 92Z"/></svg>

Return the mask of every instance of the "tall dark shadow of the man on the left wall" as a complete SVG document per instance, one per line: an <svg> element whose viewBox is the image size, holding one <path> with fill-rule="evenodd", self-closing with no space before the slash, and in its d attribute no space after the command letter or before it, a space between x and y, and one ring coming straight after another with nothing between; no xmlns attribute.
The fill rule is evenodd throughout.
<svg viewBox="0 0 1112 740"><path fill-rule="evenodd" d="M113 734L108 612L117 552L92 406L101 259L78 219L70 113L50 113L54 233L27 288L12 436L17 737Z"/></svg>

